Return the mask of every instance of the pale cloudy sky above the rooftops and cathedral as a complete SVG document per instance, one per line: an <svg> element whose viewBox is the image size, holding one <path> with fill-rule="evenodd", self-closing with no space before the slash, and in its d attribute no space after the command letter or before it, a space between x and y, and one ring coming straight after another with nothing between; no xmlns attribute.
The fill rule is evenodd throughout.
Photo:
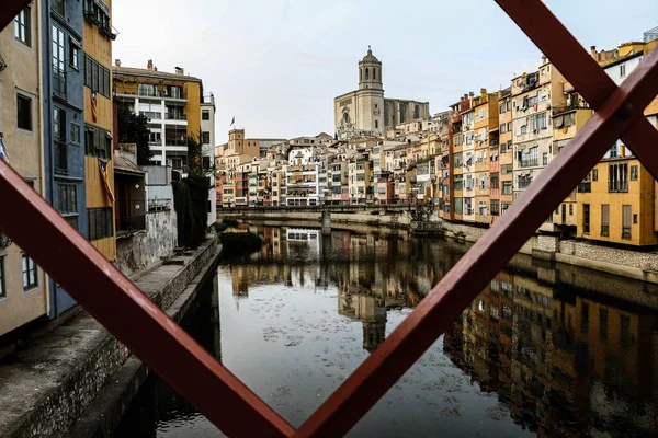
<svg viewBox="0 0 658 438"><path fill-rule="evenodd" d="M231 118L250 138L333 135L333 97L358 88L367 46L387 97L445 111L460 95L509 87L541 53L492 0L113 0L124 67L201 78L214 93L215 139ZM658 26L656 0L545 0L588 48Z"/></svg>

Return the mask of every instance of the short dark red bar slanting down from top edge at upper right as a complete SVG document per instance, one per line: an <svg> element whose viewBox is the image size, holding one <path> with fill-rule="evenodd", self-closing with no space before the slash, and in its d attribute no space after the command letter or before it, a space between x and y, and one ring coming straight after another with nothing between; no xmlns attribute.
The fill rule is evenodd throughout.
<svg viewBox="0 0 658 438"><path fill-rule="evenodd" d="M592 108L598 110L616 90L614 81L542 1L496 0L496 2L542 49L551 62L569 79ZM529 3L532 3L532 8ZM658 129L643 117L638 118L621 138L658 180Z"/></svg>

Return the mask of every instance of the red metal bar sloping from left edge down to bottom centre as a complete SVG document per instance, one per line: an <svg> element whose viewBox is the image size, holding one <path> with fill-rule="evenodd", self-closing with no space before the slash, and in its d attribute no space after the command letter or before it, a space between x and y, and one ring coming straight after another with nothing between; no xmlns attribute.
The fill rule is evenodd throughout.
<svg viewBox="0 0 658 438"><path fill-rule="evenodd" d="M0 161L0 228L137 357L229 436L294 431Z"/></svg>

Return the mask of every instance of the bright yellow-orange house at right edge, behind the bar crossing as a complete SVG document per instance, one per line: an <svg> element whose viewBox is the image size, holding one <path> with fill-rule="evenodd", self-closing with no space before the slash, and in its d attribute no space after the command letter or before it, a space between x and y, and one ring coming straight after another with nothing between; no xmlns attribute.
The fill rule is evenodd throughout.
<svg viewBox="0 0 658 438"><path fill-rule="evenodd" d="M647 32L643 42L622 44L611 58L597 60L619 84L656 46L658 35ZM592 48L592 56L600 54ZM658 103L654 100L645 115L658 127L657 114ZM579 238L633 246L658 244L656 182L620 140L580 184L577 203Z"/></svg>

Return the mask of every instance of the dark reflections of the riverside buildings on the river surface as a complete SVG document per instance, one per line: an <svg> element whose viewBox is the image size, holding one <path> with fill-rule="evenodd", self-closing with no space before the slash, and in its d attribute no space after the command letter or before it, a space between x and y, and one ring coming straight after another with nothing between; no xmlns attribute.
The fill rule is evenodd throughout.
<svg viewBox="0 0 658 438"><path fill-rule="evenodd" d="M362 322L371 353L387 312L418 304L466 250L373 232L253 231L265 244L231 266L234 295L259 284L337 288L338 313ZM445 333L443 350L540 436L656 436L657 309L651 285L518 256Z"/></svg>

